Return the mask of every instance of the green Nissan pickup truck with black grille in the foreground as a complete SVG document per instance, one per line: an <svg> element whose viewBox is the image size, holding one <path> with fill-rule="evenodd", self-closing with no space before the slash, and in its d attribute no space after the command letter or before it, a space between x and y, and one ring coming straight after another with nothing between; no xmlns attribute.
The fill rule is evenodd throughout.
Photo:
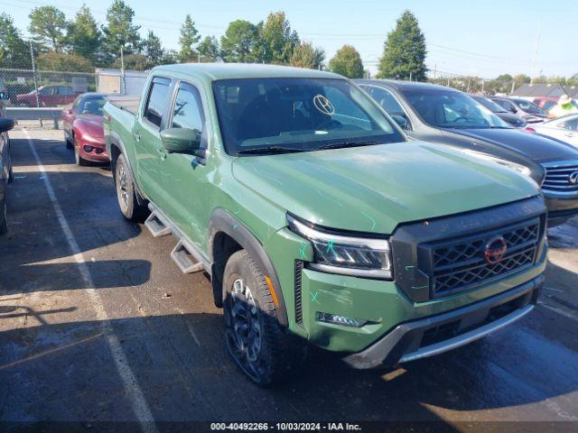
<svg viewBox="0 0 578 433"><path fill-rule="evenodd" d="M409 142L346 78L265 65L154 68L111 98L118 205L207 272L228 351L260 384L307 344L357 368L464 345L533 309L544 280L536 184Z"/></svg>

